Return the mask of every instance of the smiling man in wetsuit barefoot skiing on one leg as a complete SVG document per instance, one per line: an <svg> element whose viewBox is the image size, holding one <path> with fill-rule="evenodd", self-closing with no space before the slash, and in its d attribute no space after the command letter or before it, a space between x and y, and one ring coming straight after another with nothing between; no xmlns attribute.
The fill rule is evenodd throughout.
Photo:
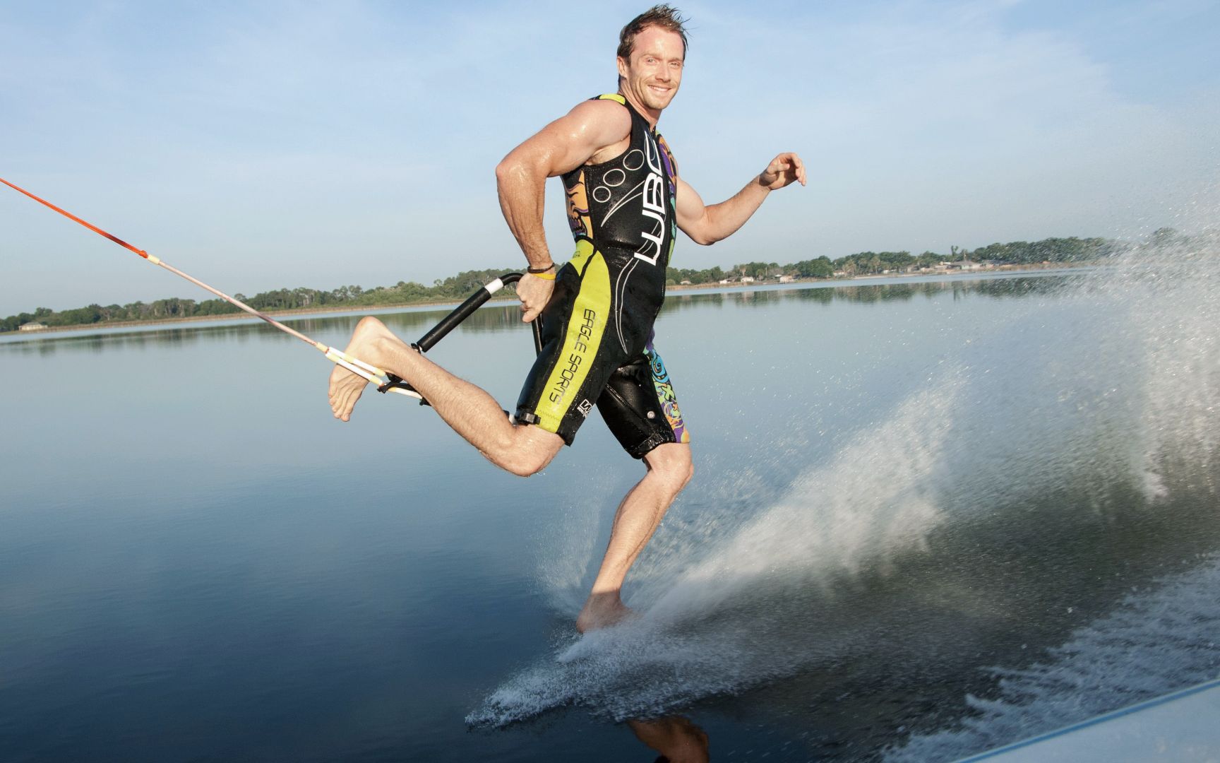
<svg viewBox="0 0 1220 763"><path fill-rule="evenodd" d="M515 416L486 392L433 364L381 321L356 326L346 352L401 376L493 464L521 476L571 444L595 405L623 448L647 469L619 505L610 544L576 621L586 632L630 610L623 579L666 509L691 480L689 436L660 355L653 321L677 231L699 244L733 233L771 190L805 183L795 154L780 154L727 201L705 206L678 177L661 111L682 82L687 37L675 9L658 5L620 34L619 93L587 100L515 148L495 170L500 208L529 264L517 283L523 320L542 316L543 352ZM544 183L562 176L572 260L556 269L543 233ZM331 408L348 421L365 380L337 367Z"/></svg>

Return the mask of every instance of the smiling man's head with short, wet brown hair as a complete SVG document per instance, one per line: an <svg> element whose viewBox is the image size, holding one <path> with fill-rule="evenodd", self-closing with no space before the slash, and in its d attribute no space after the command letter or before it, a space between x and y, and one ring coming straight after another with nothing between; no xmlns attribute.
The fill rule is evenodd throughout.
<svg viewBox="0 0 1220 763"><path fill-rule="evenodd" d="M619 87L637 105L660 112L682 82L687 37L677 9L655 5L619 34Z"/></svg>

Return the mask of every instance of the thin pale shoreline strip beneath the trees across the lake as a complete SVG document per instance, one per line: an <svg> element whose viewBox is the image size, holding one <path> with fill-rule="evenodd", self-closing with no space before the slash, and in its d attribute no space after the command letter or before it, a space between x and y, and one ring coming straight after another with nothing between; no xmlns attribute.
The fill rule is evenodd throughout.
<svg viewBox="0 0 1220 763"><path fill-rule="evenodd" d="M797 281L791 281L787 283L781 283L778 281L758 281L754 283L688 283L667 286L665 288L666 294L671 292L689 292L689 291L710 291L710 289L752 289L760 287L773 287L773 286L809 286L809 284L852 284L859 281L886 281L889 278L913 278L913 277L960 277L960 276L983 276L988 273L1011 273L1011 272L1025 272L1025 271L1043 271L1043 270L1072 270L1078 267L1094 267L1097 262L1049 262L1038 265L1000 265L998 267L992 267L988 270L974 270L974 271L944 271L944 272L928 272L928 273L904 273L904 272L892 272L892 273L870 273L866 276L850 276L845 278L799 278ZM492 297L489 303L494 302L511 302L516 294L514 292L506 292L504 294L498 294ZM262 314L273 319L293 319L293 317L307 317L315 315L331 315L334 313L383 313L387 310L409 310L416 308L453 308L461 304L461 300L417 300L407 302L401 304L392 305L351 305L351 306L327 306L327 308L296 308L293 310L264 310ZM0 338L11 339L13 337L28 337L30 339L46 336L50 333L74 333L93 330L109 330L109 328L135 328L135 327L157 327L157 326L174 326L182 324L199 324L209 321L233 321L233 320L259 320L257 316L250 315L245 311L239 313L224 313L221 315L192 315L189 317L163 317L148 321L113 321L105 324L77 324L76 326L49 326L46 328L38 328L34 331L4 331L0 332Z"/></svg>

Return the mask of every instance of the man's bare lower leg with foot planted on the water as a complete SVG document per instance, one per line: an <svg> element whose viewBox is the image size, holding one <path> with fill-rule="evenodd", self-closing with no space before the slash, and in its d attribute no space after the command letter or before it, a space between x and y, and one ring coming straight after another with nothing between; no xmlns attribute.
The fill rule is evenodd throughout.
<svg viewBox="0 0 1220 763"><path fill-rule="evenodd" d="M631 614L620 597L627 570L653 537L665 512L677 494L691 481L694 468L691 463L691 446L666 443L644 457L648 474L619 504L610 543L601 559L601 569L593 581L576 630L583 632L606 627Z"/></svg>

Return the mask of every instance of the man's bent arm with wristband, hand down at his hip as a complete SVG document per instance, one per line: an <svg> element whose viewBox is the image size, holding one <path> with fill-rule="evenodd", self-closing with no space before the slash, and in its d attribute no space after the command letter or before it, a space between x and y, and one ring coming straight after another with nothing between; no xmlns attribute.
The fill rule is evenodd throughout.
<svg viewBox="0 0 1220 763"><path fill-rule="evenodd" d="M598 151L631 134L631 116L615 101L588 100L543 127L512 149L495 167L500 209L512 236L534 269L551 264L543 230L543 201L548 177L586 164ZM555 282L526 276L517 295L532 321L550 299Z"/></svg>

